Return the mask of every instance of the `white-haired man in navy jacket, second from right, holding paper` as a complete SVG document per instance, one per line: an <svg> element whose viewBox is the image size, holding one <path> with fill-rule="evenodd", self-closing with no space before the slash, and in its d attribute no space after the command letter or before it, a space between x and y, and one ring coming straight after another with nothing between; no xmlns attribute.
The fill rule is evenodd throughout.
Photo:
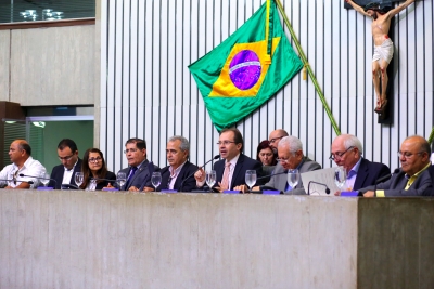
<svg viewBox="0 0 434 289"><path fill-rule="evenodd" d="M374 185L382 176L390 175L387 166L369 161L363 158L361 142L352 134L341 134L332 143L330 160L346 170L346 183L343 191L358 191L359 188ZM339 195L336 192L335 195Z"/></svg>

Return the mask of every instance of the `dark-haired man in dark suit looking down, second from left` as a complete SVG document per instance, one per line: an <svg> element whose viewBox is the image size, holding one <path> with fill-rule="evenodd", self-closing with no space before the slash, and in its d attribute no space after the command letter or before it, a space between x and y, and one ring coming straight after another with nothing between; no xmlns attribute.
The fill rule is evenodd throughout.
<svg viewBox="0 0 434 289"><path fill-rule="evenodd" d="M51 171L49 187L61 189L62 184L76 186L75 173L81 171L81 159L78 157L76 143L69 139L63 139L58 145L58 156L62 165L55 166ZM71 187L69 187L71 188Z"/></svg>

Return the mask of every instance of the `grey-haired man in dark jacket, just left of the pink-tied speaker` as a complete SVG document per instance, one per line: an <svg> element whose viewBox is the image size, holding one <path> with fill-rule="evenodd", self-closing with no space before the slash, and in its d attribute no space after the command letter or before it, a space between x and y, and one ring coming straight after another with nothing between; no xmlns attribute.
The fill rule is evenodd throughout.
<svg viewBox="0 0 434 289"><path fill-rule="evenodd" d="M190 143L186 137L175 135L169 139L166 146L169 166L161 170L162 184L157 187L157 191L177 189L178 192L190 192L196 187L193 174L199 168L188 161L189 154Z"/></svg>

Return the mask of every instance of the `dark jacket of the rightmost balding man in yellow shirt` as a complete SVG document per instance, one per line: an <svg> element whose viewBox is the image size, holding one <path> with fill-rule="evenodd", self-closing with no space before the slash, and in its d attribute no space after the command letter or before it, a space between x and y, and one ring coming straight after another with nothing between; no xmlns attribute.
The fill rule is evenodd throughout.
<svg viewBox="0 0 434 289"><path fill-rule="evenodd" d="M378 184L376 189L383 189L386 197L434 196L431 170L431 168L424 170L407 191L405 187L408 179L403 171L392 175L388 181ZM373 189L375 189L375 186L368 186L359 189L359 192L365 193Z"/></svg>

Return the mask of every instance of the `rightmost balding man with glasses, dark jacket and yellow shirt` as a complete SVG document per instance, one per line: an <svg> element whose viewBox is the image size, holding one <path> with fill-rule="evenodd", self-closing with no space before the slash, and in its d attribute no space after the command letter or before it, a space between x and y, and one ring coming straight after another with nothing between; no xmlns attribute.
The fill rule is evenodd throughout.
<svg viewBox="0 0 434 289"><path fill-rule="evenodd" d="M433 196L430 144L419 135L407 137L398 152L401 170L391 180L361 188L363 197ZM375 191L374 191L375 189Z"/></svg>

